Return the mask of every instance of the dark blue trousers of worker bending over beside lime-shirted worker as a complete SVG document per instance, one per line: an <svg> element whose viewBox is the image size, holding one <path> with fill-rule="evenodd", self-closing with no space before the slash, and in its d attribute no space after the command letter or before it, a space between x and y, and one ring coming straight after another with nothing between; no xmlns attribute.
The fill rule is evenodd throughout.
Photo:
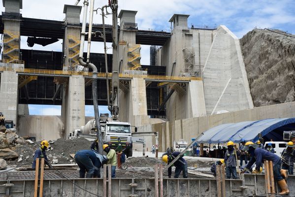
<svg viewBox="0 0 295 197"><path fill-rule="evenodd" d="M87 171L86 178L98 177L100 178L99 169L94 166L91 159L84 155L75 155L75 161L78 164L80 170L80 178L85 178L85 171Z"/></svg>

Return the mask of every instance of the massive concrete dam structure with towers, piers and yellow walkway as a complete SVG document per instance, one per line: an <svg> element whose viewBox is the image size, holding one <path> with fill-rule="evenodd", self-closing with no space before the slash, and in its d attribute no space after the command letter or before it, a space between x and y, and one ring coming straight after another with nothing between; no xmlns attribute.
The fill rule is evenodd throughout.
<svg viewBox="0 0 295 197"><path fill-rule="evenodd" d="M0 96L3 102L0 108L7 120L16 123L21 133L33 135L31 131L25 131L28 127L22 127L22 121L18 120L18 106L19 103L33 104L30 85L38 84L42 77L43 80L51 77L51 84L48 84L49 80L46 81L52 90L46 89L46 85L43 85L45 96L41 99L42 102L48 100L48 103L54 103L50 100L54 101L57 98L60 100L58 102L62 105L61 120L64 126L58 124L57 128L48 132L56 132L52 134L53 139L61 135L66 138L70 132L80 129L85 124L84 105L89 91L87 70L83 73L75 71L80 45L81 6L65 5L65 21L50 21L49 26L46 25L46 20L23 18L20 14L22 1L6 0L3 1L3 5L5 12L1 16L0 30L4 35L0 65ZM163 122L157 118L176 121L211 115L221 110L237 111L253 108L239 41L227 27L188 28L189 15L174 14L169 20L171 33L141 31L137 28L135 16L136 11L131 10L121 10L118 15L120 18L118 52L123 60L120 68L122 78L119 92L121 121L130 122L133 126L143 126ZM44 24L44 27L41 26L43 31L33 31L32 26L29 29L32 22ZM101 27L98 25L95 28ZM107 33L108 31L109 29ZM34 63L22 62L28 58L20 56L21 35L63 38L64 63L62 65L58 63L58 68L46 67L44 72L42 69L27 69L32 68ZM102 40L95 38L94 41ZM154 56L156 65L146 68L153 70L155 67L163 67L164 76L147 75L141 68L144 66L140 64L142 55L140 43L160 46ZM57 69L59 72L54 72ZM105 83L105 78L99 80ZM35 90L36 95L40 95L38 91ZM46 96L48 91L54 93L49 98ZM150 95L147 95L148 92ZM20 96L25 98L21 102L19 102ZM156 105L147 100L147 97ZM157 115L161 110L161 115ZM151 115L150 111L157 113ZM20 116L20 119L22 118ZM36 117L27 115L26 119L28 118ZM42 124L52 125L53 119L46 121ZM33 122L35 121L32 120ZM36 133L36 136L37 140L45 137L39 133Z"/></svg>

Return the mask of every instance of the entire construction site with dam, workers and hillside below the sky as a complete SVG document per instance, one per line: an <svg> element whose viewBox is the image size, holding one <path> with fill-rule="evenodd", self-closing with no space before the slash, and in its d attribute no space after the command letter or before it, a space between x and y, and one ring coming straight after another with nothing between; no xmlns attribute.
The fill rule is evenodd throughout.
<svg viewBox="0 0 295 197"><path fill-rule="evenodd" d="M295 35L255 28L239 39L225 25L189 25L190 13L143 30L118 0L60 3L62 21L2 0L0 197L295 196L295 152L285 157ZM29 47L62 40L62 50L24 49L21 36ZM97 42L104 53L91 53ZM61 115L30 115L29 105Z"/></svg>

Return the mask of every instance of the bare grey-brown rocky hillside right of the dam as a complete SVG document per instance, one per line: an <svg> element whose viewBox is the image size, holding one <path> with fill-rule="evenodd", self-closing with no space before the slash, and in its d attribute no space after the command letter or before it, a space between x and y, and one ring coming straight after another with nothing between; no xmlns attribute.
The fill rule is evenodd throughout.
<svg viewBox="0 0 295 197"><path fill-rule="evenodd" d="M240 44L254 105L295 101L295 35L254 29Z"/></svg>

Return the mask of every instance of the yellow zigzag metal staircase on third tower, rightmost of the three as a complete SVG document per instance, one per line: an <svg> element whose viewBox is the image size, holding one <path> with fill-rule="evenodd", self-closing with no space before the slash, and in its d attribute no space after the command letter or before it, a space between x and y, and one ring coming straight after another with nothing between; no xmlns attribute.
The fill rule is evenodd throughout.
<svg viewBox="0 0 295 197"><path fill-rule="evenodd" d="M128 49L128 65L130 70L138 70L141 68L140 64L140 44L134 44Z"/></svg>

